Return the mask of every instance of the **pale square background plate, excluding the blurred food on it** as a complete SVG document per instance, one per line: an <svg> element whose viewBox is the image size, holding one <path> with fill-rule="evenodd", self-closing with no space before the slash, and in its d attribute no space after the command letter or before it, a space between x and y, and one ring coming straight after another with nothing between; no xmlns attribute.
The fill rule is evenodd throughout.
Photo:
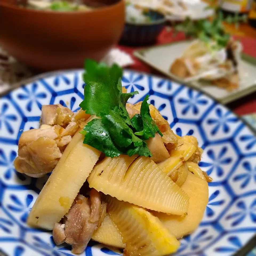
<svg viewBox="0 0 256 256"><path fill-rule="evenodd" d="M187 83L185 79L181 79L172 74L169 71L171 64L176 58L180 57L181 53L189 46L189 44L190 41L183 41L167 45L153 46L135 51L134 55L166 76L199 89L221 103L226 104L256 91L256 59L244 54L241 55L242 59L239 68L241 78L240 86L238 89L231 92L211 85L210 82L203 83L201 81L196 81Z"/></svg>

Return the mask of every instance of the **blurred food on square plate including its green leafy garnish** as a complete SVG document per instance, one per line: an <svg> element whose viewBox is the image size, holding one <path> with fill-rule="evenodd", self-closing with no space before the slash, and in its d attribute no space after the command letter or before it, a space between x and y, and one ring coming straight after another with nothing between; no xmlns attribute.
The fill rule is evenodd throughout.
<svg viewBox="0 0 256 256"><path fill-rule="evenodd" d="M244 17L241 17L243 20ZM184 79L185 82L197 80L210 81L228 91L239 87L240 53L242 45L234 41L225 32L222 22L238 23L240 18L223 18L221 11L215 13L212 21L199 19L192 21L187 18L176 26L177 31L195 38L181 57L175 59L170 72Z"/></svg>

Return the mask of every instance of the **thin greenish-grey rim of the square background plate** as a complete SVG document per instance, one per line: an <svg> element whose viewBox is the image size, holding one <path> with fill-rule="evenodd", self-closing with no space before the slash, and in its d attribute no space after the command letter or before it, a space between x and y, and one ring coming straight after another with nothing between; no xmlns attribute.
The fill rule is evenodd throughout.
<svg viewBox="0 0 256 256"><path fill-rule="evenodd" d="M161 48L161 47L165 47L165 46L171 46L171 45L175 45L175 44L178 44L178 43L181 43L181 42L191 42L193 39L185 39L185 40L182 40L182 41L177 41L177 42L171 42L171 43L165 43L165 44L161 44L161 45L156 45L156 46L149 46L149 47L144 47L144 48L141 48L139 50L135 50L133 52L133 55L135 57L137 57L138 59L140 59L141 61L145 62L147 65L151 66L152 68L154 68L155 70L159 71L161 74L163 75L166 75L169 79L173 79L174 81L176 82L179 82L181 83L182 85L186 85L188 87L191 87L195 90L198 90L204 94L206 94L207 96L209 96L210 98L214 99L215 101L217 101L218 103L221 103L222 105L225 105L227 103L230 103L232 101L235 101L239 98L242 98L254 91L256 91L256 82L254 84L252 84L250 87L242 90L242 91L239 91L235 94L232 94L232 95L229 95L227 97L224 97L224 98L221 98L221 99L216 99L214 96L212 96L211 94L201 90L200 88L196 87L193 85L193 83L184 83L184 81L182 81L182 79L179 79L179 77L175 76L174 74L170 73L170 72L166 72L166 71L163 71L162 69L158 68L156 65L154 65L152 62L148 61L145 57L144 57L144 53L146 51L149 51L149 50L152 50L152 49L157 49L157 48ZM245 54L245 53L241 53L241 59L247 63L250 63L251 65L255 66L256 67L256 58L251 56L251 55L248 55L248 54ZM172 74L172 75L171 75ZM226 105L225 105L226 106Z"/></svg>

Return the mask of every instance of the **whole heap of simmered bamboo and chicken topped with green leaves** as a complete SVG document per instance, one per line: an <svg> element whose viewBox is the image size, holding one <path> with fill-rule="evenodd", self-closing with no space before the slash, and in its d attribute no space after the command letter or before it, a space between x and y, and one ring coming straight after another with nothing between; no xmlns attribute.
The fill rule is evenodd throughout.
<svg viewBox="0 0 256 256"><path fill-rule="evenodd" d="M16 170L52 171L27 223L77 254L90 239L126 255L174 253L207 205L202 149L175 135L148 96L127 103L138 92L123 92L121 78L119 66L87 60L81 110L42 106L41 127L22 133Z"/></svg>

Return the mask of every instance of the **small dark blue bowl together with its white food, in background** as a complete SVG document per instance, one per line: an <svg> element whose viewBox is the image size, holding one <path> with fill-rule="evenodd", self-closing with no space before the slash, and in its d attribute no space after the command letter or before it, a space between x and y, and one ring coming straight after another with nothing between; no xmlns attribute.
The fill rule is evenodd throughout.
<svg viewBox="0 0 256 256"><path fill-rule="evenodd" d="M128 4L125 29L120 42L136 46L153 44L165 23L166 19L162 13Z"/></svg>

